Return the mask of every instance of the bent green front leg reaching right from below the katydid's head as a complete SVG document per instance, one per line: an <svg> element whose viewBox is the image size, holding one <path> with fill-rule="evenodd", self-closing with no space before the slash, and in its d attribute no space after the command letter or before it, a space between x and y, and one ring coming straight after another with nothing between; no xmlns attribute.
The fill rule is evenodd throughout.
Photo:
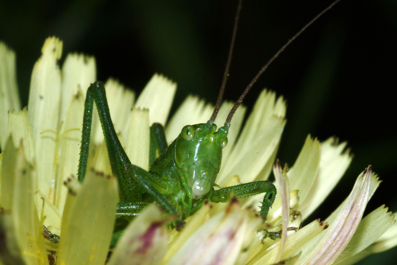
<svg viewBox="0 0 397 265"><path fill-rule="evenodd" d="M261 216L266 218L270 207L274 203L277 190L276 187L273 185L273 183L271 183L269 180L255 181L236 186L226 187L214 191L212 196L209 198L209 200L214 203L225 203L230 200L230 196L232 193L233 196L236 198L244 198L247 196L253 196L260 193L266 193L264 196L264 200L262 202L262 207L260 212Z"/></svg>

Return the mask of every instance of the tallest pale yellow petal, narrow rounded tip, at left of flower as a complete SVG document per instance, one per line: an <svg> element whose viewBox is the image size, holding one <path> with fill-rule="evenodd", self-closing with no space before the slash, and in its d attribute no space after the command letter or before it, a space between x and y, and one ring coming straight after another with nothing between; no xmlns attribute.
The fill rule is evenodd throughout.
<svg viewBox="0 0 397 265"><path fill-rule="evenodd" d="M36 146L37 189L53 201L55 182L56 140L51 133L59 133L58 118L61 100L61 70L58 60L62 54L62 42L48 38L42 55L35 63L30 82L28 114L32 123ZM43 133L46 132L46 133ZM57 154L58 155L58 154Z"/></svg>

